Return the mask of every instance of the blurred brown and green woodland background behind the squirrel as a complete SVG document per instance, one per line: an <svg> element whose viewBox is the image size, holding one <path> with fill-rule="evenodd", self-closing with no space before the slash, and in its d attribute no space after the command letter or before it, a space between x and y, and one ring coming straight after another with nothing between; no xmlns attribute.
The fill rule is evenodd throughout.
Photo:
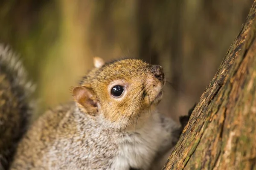
<svg viewBox="0 0 256 170"><path fill-rule="evenodd" d="M166 73L159 109L177 120L199 101L253 0L0 0L0 42L37 83L38 114L71 100L93 57L142 58Z"/></svg>

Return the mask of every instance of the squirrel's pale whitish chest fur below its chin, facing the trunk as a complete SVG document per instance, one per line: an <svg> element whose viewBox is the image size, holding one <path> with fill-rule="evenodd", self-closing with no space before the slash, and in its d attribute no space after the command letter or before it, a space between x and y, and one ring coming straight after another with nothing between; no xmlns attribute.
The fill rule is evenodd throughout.
<svg viewBox="0 0 256 170"><path fill-rule="evenodd" d="M162 117L163 118L163 117ZM160 150L169 149L175 136L173 130L177 124L172 119L163 118L156 114L136 132L125 133L119 139L118 154L114 159L113 170L129 170L129 168L148 170ZM167 152L168 150L166 150Z"/></svg>

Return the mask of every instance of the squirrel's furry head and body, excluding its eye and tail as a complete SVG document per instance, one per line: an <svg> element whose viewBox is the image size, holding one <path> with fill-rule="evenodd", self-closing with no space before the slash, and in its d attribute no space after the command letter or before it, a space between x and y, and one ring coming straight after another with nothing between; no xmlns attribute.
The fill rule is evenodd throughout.
<svg viewBox="0 0 256 170"><path fill-rule="evenodd" d="M155 110L163 69L138 59L94 63L72 90L75 102L32 125L11 169L148 170L174 146L180 127ZM115 85L125 88L120 97L111 95Z"/></svg>

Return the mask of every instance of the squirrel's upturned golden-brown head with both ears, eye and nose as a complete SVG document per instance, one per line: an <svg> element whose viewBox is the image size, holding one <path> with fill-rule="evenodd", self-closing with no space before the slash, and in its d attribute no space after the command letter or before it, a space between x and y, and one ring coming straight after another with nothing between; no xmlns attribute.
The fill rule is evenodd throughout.
<svg viewBox="0 0 256 170"><path fill-rule="evenodd" d="M81 84L73 88L73 97L81 111L93 116L102 114L125 129L151 117L165 84L160 65L140 59L105 63L96 57L94 66Z"/></svg>

